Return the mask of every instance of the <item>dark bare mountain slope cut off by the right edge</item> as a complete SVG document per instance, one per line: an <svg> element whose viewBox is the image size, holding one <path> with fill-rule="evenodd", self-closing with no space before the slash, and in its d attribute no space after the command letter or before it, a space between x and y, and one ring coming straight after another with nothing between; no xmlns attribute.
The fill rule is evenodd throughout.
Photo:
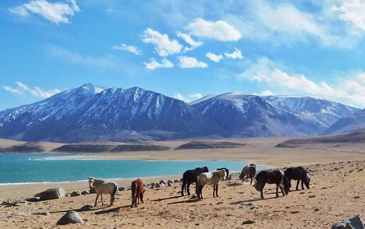
<svg viewBox="0 0 365 229"><path fill-rule="evenodd" d="M365 128L365 109L339 119L324 131L323 134L344 134L362 128Z"/></svg>

